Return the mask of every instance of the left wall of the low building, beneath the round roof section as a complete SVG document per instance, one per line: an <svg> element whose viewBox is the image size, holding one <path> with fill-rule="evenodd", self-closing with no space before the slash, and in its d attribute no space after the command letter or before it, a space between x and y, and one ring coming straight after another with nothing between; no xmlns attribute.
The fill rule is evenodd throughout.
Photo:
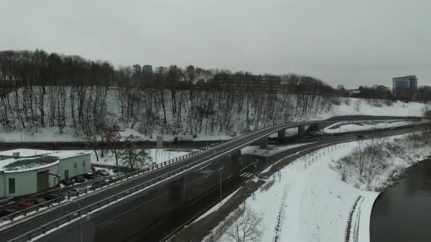
<svg viewBox="0 0 431 242"><path fill-rule="evenodd" d="M38 172L49 171L57 174L58 164L32 171L0 173L0 197L18 197L38 192ZM9 178L15 178L15 193L9 193ZM49 186L55 186L53 175L48 176Z"/></svg>

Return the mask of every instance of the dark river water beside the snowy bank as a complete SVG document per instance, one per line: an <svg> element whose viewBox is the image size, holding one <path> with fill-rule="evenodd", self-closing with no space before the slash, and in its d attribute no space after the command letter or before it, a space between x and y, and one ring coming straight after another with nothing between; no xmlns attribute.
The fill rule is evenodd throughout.
<svg viewBox="0 0 431 242"><path fill-rule="evenodd" d="M413 166L376 200L371 242L431 241L431 161Z"/></svg>

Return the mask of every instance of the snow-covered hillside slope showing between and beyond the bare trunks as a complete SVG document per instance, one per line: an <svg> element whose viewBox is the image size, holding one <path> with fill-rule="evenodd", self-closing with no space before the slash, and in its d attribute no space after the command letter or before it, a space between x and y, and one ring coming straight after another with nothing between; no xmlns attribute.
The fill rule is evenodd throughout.
<svg viewBox="0 0 431 242"><path fill-rule="evenodd" d="M151 95L153 94L154 93ZM10 95L13 95L13 93ZM21 94L18 92L18 96L20 95ZM69 95L70 90L67 89L65 96ZM181 96L182 94L180 93L178 95ZM207 94L202 93L200 95L202 95L200 99L201 101L206 100L205 95ZM116 90L116 88L110 88L107 91L105 100L103 100L104 111L103 117L100 118L106 120L106 123L108 124L120 125L121 130L123 130L121 132L123 137L133 134L142 139L155 140L157 134L163 134L165 140L172 140L173 137L178 134L195 134L195 140L224 140L247 132L247 130L254 129L257 125L259 125L259 127L272 125L272 122L320 120L337 115L420 116L425 107L425 104L422 103L402 103L400 101L391 103L356 98L340 98L340 102L331 101L332 103L328 104L328 106L320 106L319 100L315 100L315 102L310 103L310 105L301 106L300 102L303 102L301 99L303 97L297 95L285 95L277 96L277 100L271 100L270 98L265 97L260 101L260 103L263 102L264 105L267 105L266 107L259 107L259 100L257 100L254 104L250 105L250 109L248 110L245 108L245 100L244 103L241 103L240 100L235 100L235 102L240 102L240 104L235 103L232 107L226 107L226 103L223 105L220 104L220 106L213 107L214 110L218 110L218 113L212 114L212 116L208 117L205 115L205 117L201 117L196 113L196 109L200 110L200 107L203 104L190 103L190 101L186 101L184 103L184 107L180 109L181 115L174 117L171 111L172 102L169 100L169 96L165 96L165 98L167 98L165 103L165 108L167 110L166 124L164 124L164 112L162 111L162 106L159 103L146 103L145 105L150 105L151 107L152 126L148 126L148 115L145 113L136 117L136 123L133 125L132 120L130 120L130 118L125 118L122 114L122 112L124 112L124 107L118 100L118 90ZM211 97L208 96L208 98ZM287 98L289 98L289 101L285 105L281 105L281 101ZM157 98L155 100L157 100ZM250 99L250 102L251 101L252 99ZM21 101L16 104L17 106L11 105L12 112L8 115L9 117L13 117L13 120L16 121L13 122L13 125L9 123L9 125L0 126L0 142L69 142L82 140L77 135L77 128L73 125L73 123L77 123L76 119L78 113L77 110L74 110L74 108L77 108L77 101L74 100L74 102L75 103L72 106L72 101L67 98L65 103L62 103L64 110L69 110L67 112L64 110L62 111L61 108L58 109L59 107L54 107L52 110L52 107L48 106L47 102L44 104L45 110L51 110L50 112L57 113L60 110L60 113L64 113L64 120L61 122L64 122L65 125L62 125L61 127L55 125L57 120L50 121L54 125L49 125L47 123L45 127L41 127L38 120L26 120L25 118L20 117L22 112L24 112L22 106L23 103ZM208 102L210 104L212 102L211 105L216 105L215 100L208 100ZM226 100L226 102L229 103L230 101ZM328 102L328 100L325 100L325 102ZM208 103L206 105L208 105ZM226 108L229 108L228 113L225 113ZM33 112L35 114L32 115L35 118L40 118L38 108L33 109L35 109ZM143 107L141 109L143 109ZM70 110L74 110L74 117L70 115ZM265 113L259 113L258 110L262 110L260 112ZM150 111L146 110L145 112ZM45 113L45 115L47 115L47 113ZM50 115L52 116L52 114ZM274 115L274 117L270 117L269 115ZM228 126L224 123L220 123L227 122L225 121L227 118L230 122ZM20 120L26 124L24 129L22 128L22 125L20 125ZM73 120L75 120L75 122L73 122ZM226 129L225 126L228 127L228 129Z"/></svg>

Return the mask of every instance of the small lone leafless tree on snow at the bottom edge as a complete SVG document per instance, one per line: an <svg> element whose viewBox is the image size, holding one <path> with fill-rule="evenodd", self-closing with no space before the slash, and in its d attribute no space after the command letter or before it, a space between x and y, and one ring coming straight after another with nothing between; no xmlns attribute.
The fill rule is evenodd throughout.
<svg viewBox="0 0 431 242"><path fill-rule="evenodd" d="M228 241L231 242L257 242L262 237L263 224L262 214L257 214L251 207L244 204L245 209L240 214L229 229L225 232ZM235 210L234 213L240 212ZM233 215L235 217L235 214Z"/></svg>

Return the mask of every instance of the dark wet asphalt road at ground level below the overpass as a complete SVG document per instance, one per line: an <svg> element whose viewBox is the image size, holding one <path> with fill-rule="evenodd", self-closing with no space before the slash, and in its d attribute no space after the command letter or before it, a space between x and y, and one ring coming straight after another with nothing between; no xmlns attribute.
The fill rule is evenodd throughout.
<svg viewBox="0 0 431 242"><path fill-rule="evenodd" d="M383 132L368 132L368 134L363 135L364 139L366 139L371 136L391 136L405 133L406 131L405 129L386 130ZM274 161L281 159L284 159L285 163L290 163L302 154L291 155L304 149L309 149L306 151L308 153L315 149L320 149L317 148L318 146L333 142L346 142L352 139L356 140L357 135L348 134L340 137L331 137L330 139L328 137L320 137L320 140L313 138L310 139L310 141L313 140L315 142L313 144L306 144L270 156L268 164L271 165ZM289 157L286 158L286 156ZM258 165L256 168L253 166L255 161L257 161ZM239 188L244 180L252 178L248 174L264 169L267 163L266 159L259 156L243 156L242 171L239 177L235 177L233 170L230 170L228 166L228 159L224 159L222 162L226 165L226 168L222 170L224 196ZM96 222L95 241L159 241L164 236L175 231L179 226L184 226L184 223L196 216L196 214L206 212L208 205L218 202L218 189L220 186L218 168L218 165L208 166L201 171L196 171L196 173L189 175L188 178L186 177L186 180L188 180L186 188L188 200L185 204L179 204L169 199L167 190L164 190L147 196L145 200L130 202L119 213L99 217ZM121 233L118 233L118 231L121 231Z"/></svg>

